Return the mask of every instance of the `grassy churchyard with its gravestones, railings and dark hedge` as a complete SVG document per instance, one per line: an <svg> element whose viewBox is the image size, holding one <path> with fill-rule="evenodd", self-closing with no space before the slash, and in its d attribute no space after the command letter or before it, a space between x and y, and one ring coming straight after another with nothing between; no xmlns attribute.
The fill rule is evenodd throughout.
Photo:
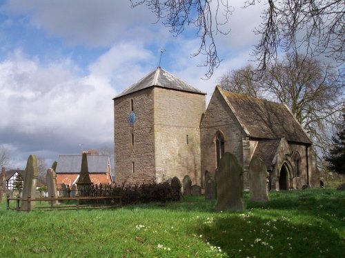
<svg viewBox="0 0 345 258"><path fill-rule="evenodd" d="M34 155L28 158L22 197L0 205L1 257L339 257L345 248L345 191L268 192L258 157L248 168L249 179L258 183L249 190L242 167L228 152L204 189L188 177L182 182L174 177L152 185L107 186L118 190L112 195L90 185L85 161L81 168L77 195L71 197L66 187L65 197L58 197L50 168L50 197L32 198L37 168ZM110 199L119 202L109 205ZM44 200L48 204L40 208ZM116 209L99 210L110 206Z"/></svg>

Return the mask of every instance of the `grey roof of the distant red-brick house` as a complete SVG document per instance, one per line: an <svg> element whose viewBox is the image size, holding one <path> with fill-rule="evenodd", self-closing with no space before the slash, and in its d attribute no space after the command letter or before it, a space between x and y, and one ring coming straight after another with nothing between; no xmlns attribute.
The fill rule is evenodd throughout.
<svg viewBox="0 0 345 258"><path fill-rule="evenodd" d="M88 155L88 172L105 173L107 172L108 156ZM59 173L80 173L81 155L59 155L57 160L57 174Z"/></svg>

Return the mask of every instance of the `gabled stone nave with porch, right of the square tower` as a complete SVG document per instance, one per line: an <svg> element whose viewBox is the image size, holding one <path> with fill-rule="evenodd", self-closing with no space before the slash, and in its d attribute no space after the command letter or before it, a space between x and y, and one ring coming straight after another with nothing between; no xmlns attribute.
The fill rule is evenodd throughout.
<svg viewBox="0 0 345 258"><path fill-rule="evenodd" d="M253 155L261 157L270 173L270 189L319 187L316 155L302 126L282 103L215 88L201 118L201 171L217 177L224 152L231 152L244 169Z"/></svg>

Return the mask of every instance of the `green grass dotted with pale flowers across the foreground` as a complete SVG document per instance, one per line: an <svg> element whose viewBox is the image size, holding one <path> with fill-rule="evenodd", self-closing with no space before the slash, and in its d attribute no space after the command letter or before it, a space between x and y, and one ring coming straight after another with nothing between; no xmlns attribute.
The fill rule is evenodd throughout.
<svg viewBox="0 0 345 258"><path fill-rule="evenodd" d="M17 212L0 206L0 257L344 257L345 192L270 192L266 204L215 201L111 210Z"/></svg>

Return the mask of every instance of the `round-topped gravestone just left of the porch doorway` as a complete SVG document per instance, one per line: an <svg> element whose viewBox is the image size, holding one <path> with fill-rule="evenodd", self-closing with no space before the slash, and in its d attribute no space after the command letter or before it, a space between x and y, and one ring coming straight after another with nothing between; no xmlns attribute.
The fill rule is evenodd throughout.
<svg viewBox="0 0 345 258"><path fill-rule="evenodd" d="M250 200L268 201L267 169L264 161L253 156L248 168Z"/></svg>

